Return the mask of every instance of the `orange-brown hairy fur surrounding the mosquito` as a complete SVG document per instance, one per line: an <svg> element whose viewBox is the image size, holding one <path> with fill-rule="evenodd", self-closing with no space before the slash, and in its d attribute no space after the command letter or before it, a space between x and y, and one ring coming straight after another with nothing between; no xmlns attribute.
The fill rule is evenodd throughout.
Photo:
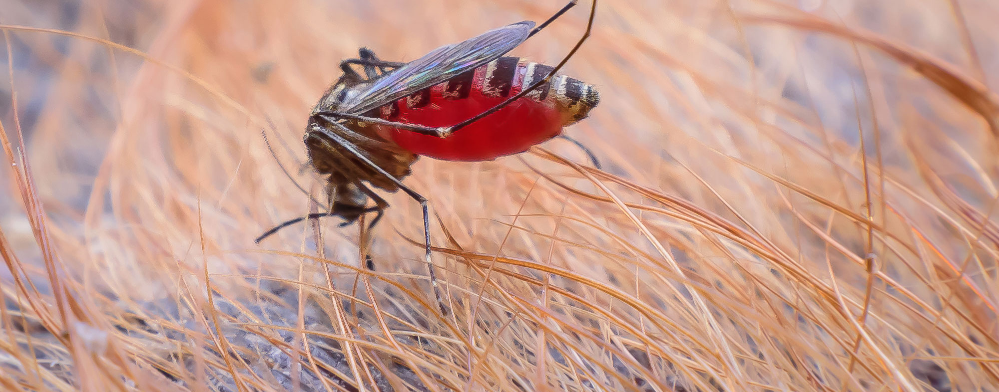
<svg viewBox="0 0 999 392"><path fill-rule="evenodd" d="M374 272L336 219L253 243L316 208L282 166L322 195L340 60L562 5L0 1L0 389L999 390L992 1L599 1L564 73L604 172L552 141L405 180L454 314L405 195Z"/></svg>

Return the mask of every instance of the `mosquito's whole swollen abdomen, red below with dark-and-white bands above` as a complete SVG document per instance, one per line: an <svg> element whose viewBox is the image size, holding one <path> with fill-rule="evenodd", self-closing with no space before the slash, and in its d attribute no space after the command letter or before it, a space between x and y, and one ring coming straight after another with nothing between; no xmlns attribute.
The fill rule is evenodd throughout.
<svg viewBox="0 0 999 392"><path fill-rule="evenodd" d="M501 57L380 110L383 119L448 127L473 118L544 78L553 68ZM523 152L586 116L599 95L578 80L555 75L548 83L480 121L441 139L383 127L404 149L450 161L488 161Z"/></svg>

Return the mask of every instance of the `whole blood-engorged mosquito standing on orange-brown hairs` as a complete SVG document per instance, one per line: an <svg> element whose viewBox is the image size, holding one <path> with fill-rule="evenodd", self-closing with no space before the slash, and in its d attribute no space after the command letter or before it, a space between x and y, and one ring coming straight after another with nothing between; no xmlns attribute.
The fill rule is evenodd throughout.
<svg viewBox="0 0 999 392"><path fill-rule="evenodd" d="M409 63L383 61L366 48L359 58L341 62L343 75L316 104L304 137L313 168L329 176L330 209L278 224L255 242L291 224L325 216L340 216L345 226L375 212L367 227L371 230L389 206L372 187L403 191L423 208L424 257L441 311L448 314L431 257L428 199L402 180L420 156L492 161L555 137L579 146L598 167L588 149L561 132L585 118L599 94L593 86L558 73L589 37L596 0L582 36L554 67L503 56L577 2L569 1L536 27L531 21L509 24ZM366 260L374 269L370 255Z"/></svg>

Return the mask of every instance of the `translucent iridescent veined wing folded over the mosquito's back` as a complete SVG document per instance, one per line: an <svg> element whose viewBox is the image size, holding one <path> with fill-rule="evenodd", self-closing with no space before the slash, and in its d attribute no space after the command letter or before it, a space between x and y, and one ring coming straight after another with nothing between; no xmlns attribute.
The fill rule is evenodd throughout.
<svg viewBox="0 0 999 392"><path fill-rule="evenodd" d="M445 45L375 79L338 109L361 114L396 101L500 58L530 34L534 22L523 21L487 31L464 42Z"/></svg>

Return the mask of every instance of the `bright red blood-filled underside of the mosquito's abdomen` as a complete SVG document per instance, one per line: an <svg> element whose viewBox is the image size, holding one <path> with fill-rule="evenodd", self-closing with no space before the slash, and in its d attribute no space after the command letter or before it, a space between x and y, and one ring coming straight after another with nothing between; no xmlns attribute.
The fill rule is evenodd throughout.
<svg viewBox="0 0 999 392"><path fill-rule="evenodd" d="M510 96L518 89L511 90ZM424 107L410 108L407 99L400 100L396 121L429 127L454 126L505 100L484 95L480 84L468 98L449 100L443 95L444 88L439 85L431 88L430 103ZM524 152L557 136L561 128L561 115L552 100L538 102L523 97L445 139L396 128L387 132L399 146L418 155L448 161L490 161Z"/></svg>

